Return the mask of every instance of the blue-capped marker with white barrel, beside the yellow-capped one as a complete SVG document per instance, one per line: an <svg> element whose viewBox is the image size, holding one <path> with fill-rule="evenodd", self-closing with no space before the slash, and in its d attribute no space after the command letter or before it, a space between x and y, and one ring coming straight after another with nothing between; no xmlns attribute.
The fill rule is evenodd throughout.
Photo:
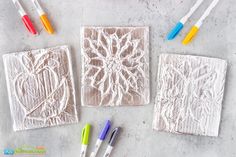
<svg viewBox="0 0 236 157"><path fill-rule="evenodd" d="M172 40L179 34L179 32L183 29L184 24L188 21L188 19L192 16L192 14L199 8L199 6L202 4L203 1L204 0L197 0L197 2L189 10L189 12L180 19L180 21L176 24L176 26L167 35L167 40Z"/></svg>

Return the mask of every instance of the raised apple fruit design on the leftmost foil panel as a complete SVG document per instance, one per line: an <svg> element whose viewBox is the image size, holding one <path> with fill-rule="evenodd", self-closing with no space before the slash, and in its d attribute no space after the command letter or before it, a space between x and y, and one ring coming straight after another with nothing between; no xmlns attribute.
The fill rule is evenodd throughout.
<svg viewBox="0 0 236 157"><path fill-rule="evenodd" d="M59 123L70 93L66 77L57 75L59 62L50 52L35 56L29 52L21 64L24 70L15 77L14 90L25 113L24 125Z"/></svg>

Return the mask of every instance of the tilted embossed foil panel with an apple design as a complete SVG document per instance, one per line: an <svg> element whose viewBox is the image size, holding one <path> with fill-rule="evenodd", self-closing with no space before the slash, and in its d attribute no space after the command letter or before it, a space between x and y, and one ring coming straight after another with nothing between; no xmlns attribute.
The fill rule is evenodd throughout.
<svg viewBox="0 0 236 157"><path fill-rule="evenodd" d="M13 128L78 122L67 46L3 56Z"/></svg>

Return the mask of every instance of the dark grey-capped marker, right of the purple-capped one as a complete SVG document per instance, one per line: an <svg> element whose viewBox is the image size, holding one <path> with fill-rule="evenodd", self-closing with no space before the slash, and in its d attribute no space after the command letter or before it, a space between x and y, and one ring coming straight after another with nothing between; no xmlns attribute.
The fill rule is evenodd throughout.
<svg viewBox="0 0 236 157"><path fill-rule="evenodd" d="M121 131L120 127L117 127L112 131L111 138L109 140L106 152L105 152L103 157L109 157L111 155L112 149L115 145L115 142L117 140L117 137L118 137L118 134L119 134L120 131Z"/></svg>

